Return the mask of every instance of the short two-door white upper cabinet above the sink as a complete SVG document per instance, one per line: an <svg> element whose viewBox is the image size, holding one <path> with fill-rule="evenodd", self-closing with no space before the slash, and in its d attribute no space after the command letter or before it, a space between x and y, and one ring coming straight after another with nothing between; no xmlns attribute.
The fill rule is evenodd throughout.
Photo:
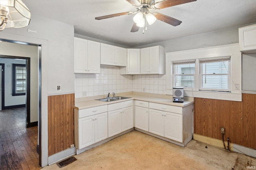
<svg viewBox="0 0 256 170"><path fill-rule="evenodd" d="M100 64L126 66L126 57L127 50L125 48L101 43Z"/></svg>

